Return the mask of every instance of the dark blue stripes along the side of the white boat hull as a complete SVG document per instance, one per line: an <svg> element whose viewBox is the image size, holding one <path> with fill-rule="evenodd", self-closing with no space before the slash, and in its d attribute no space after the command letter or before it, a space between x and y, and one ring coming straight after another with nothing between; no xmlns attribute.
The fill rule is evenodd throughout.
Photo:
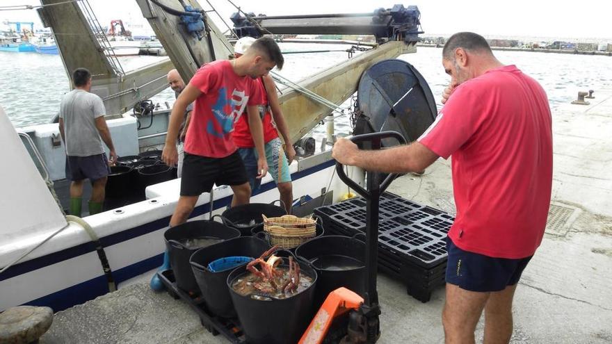
<svg viewBox="0 0 612 344"><path fill-rule="evenodd" d="M293 181L296 181L300 178L307 176L308 174L325 170L325 168L328 168L334 164L334 160L326 161L325 163L321 163L320 165L316 165L306 170L291 174L291 179L293 179ZM259 193L265 193L266 191L271 190L275 187L276 186L273 182L266 183L262 185L261 188L259 188L255 195L258 195ZM231 201L231 195L228 197L224 197L223 199L218 199L214 202L214 209L216 210L219 208L224 208L225 206L230 204ZM202 206L198 206L193 210L193 213L191 213L191 217L193 218L195 216L209 213L209 211L210 205L202 204ZM100 238L100 241L102 242L102 245L104 247L108 247L111 245L122 243L132 238L137 238L138 236L149 234L152 231L156 231L160 228L168 226L169 222L170 217L168 216L159 220L155 220L153 222L148 222L138 227L134 227L132 229L127 229L120 233L105 236L104 238ZM88 254L89 252L95 252L94 245L92 243L83 243L75 247L64 249L61 252L54 252L52 254L47 254L46 256L32 259L24 263L19 263L17 265L13 265L11 268L3 272L3 274L0 275L0 281L16 277L27 272L45 268L48 265L59 263L67 259L72 259L83 254ZM138 263L134 263L125 268L113 271L113 278L115 279L115 282L120 283L127 279L131 279L132 277L142 275L143 273L150 271L156 267L159 267L162 261L163 254L152 256L143 261L139 261ZM108 293L108 284L106 282L106 277L104 277L104 275L101 275L94 279L84 281L80 284L70 286L69 288L65 288L56 293L51 293L31 302L27 302L26 304L35 306L49 306L51 307L51 309L57 312L62 311L63 309L67 309L76 304L82 304L83 302L92 300L95 297L104 295L106 293Z"/></svg>

